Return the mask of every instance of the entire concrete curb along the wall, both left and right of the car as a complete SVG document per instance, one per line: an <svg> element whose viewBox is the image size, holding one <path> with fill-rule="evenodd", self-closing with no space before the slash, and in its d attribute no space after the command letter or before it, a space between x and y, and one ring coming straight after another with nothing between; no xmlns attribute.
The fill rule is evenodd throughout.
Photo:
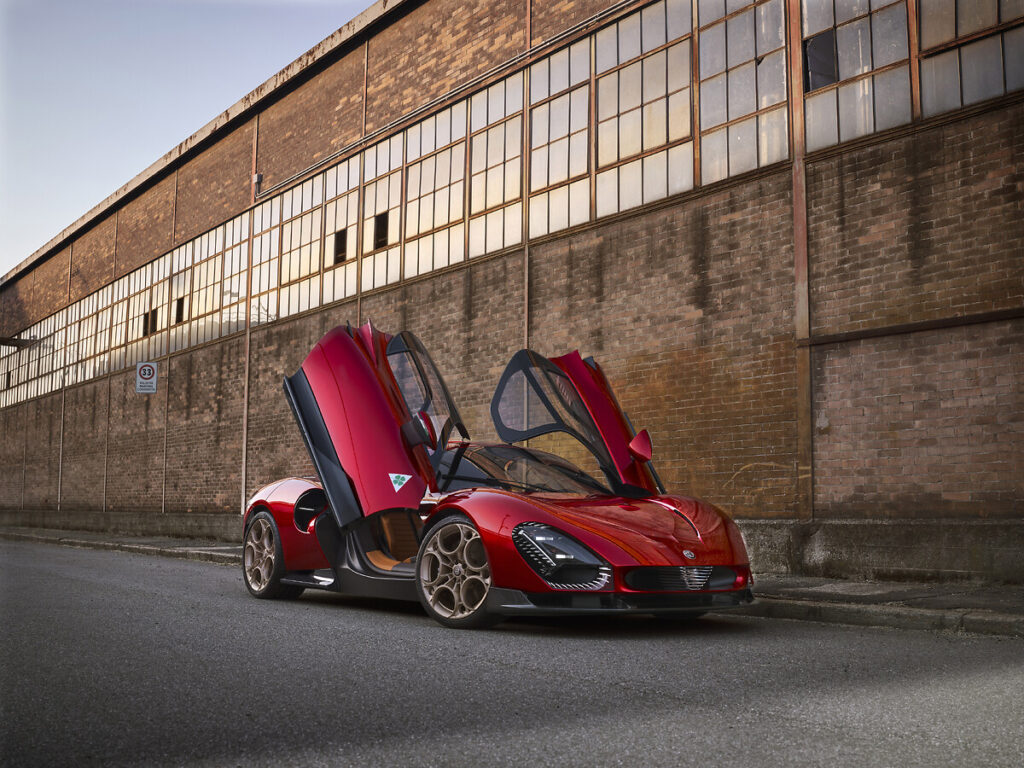
<svg viewBox="0 0 1024 768"><path fill-rule="evenodd" d="M9 541L56 544L79 549L115 550L139 555L175 557L181 560L212 562L219 565L241 565L241 553L211 552L213 547L182 545L167 547L148 544L128 544L72 537L41 536L0 530L0 539ZM971 632L979 635L1024 638L1024 616L966 608L912 608L904 605L842 603L818 600L796 600L772 595L758 595L753 605L733 608L734 615L762 618L792 618L801 622L845 624L854 627L888 627L901 630L940 632Z"/></svg>

